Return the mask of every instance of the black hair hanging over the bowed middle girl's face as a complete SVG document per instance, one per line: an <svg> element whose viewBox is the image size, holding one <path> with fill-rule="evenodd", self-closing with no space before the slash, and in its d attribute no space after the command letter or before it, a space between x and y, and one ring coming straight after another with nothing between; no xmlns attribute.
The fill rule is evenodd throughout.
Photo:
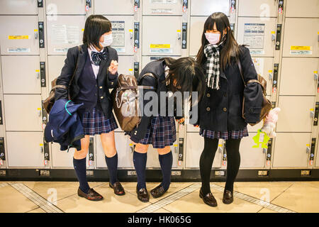
<svg viewBox="0 0 319 227"><path fill-rule="evenodd" d="M164 57L169 74L165 79L169 91L198 92L198 101L201 100L206 88L203 69L193 57Z"/></svg>

